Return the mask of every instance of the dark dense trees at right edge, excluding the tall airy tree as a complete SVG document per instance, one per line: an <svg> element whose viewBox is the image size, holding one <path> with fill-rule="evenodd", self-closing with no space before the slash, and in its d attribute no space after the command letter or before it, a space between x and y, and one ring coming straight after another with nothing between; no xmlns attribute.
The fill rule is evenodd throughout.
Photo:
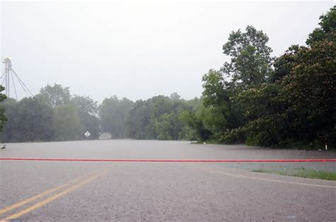
<svg viewBox="0 0 336 222"><path fill-rule="evenodd" d="M262 146L336 146L335 7L320 17L308 47L293 45L274 63L269 83L238 93L247 122L223 136L244 134L247 144Z"/></svg>

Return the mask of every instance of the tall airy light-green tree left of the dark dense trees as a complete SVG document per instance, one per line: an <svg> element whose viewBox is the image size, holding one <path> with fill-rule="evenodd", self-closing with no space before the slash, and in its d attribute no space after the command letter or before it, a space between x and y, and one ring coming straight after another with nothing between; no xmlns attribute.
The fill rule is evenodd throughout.
<svg viewBox="0 0 336 222"><path fill-rule="evenodd" d="M268 40L267 35L252 26L247 26L246 33L240 30L231 33L223 45L223 53L231 57L231 62L225 62L220 71L210 69L203 76L204 107L198 118L202 124L198 126L210 132L204 134L209 139L231 141L236 136L230 130L245 124L245 104L235 100L243 90L259 86L269 78L273 58ZM238 137L240 141L241 136Z"/></svg>

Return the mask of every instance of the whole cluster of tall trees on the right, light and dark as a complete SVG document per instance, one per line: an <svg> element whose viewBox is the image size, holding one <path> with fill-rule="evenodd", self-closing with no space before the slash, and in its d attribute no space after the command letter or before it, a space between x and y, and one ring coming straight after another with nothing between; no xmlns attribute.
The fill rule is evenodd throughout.
<svg viewBox="0 0 336 222"><path fill-rule="evenodd" d="M203 76L203 107L189 125L201 141L336 147L336 8L305 46L271 57L269 38L247 26L223 45L231 60Z"/></svg>

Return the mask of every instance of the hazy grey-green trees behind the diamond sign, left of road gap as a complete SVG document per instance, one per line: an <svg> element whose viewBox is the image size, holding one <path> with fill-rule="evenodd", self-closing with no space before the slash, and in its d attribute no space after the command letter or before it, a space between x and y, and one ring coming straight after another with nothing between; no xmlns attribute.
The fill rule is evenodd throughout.
<svg viewBox="0 0 336 222"><path fill-rule="evenodd" d="M1 141L63 141L89 139L99 136L97 104L88 97L74 95L61 85L45 86L34 98L20 101L7 99L1 103L6 108L8 122L4 125Z"/></svg>

